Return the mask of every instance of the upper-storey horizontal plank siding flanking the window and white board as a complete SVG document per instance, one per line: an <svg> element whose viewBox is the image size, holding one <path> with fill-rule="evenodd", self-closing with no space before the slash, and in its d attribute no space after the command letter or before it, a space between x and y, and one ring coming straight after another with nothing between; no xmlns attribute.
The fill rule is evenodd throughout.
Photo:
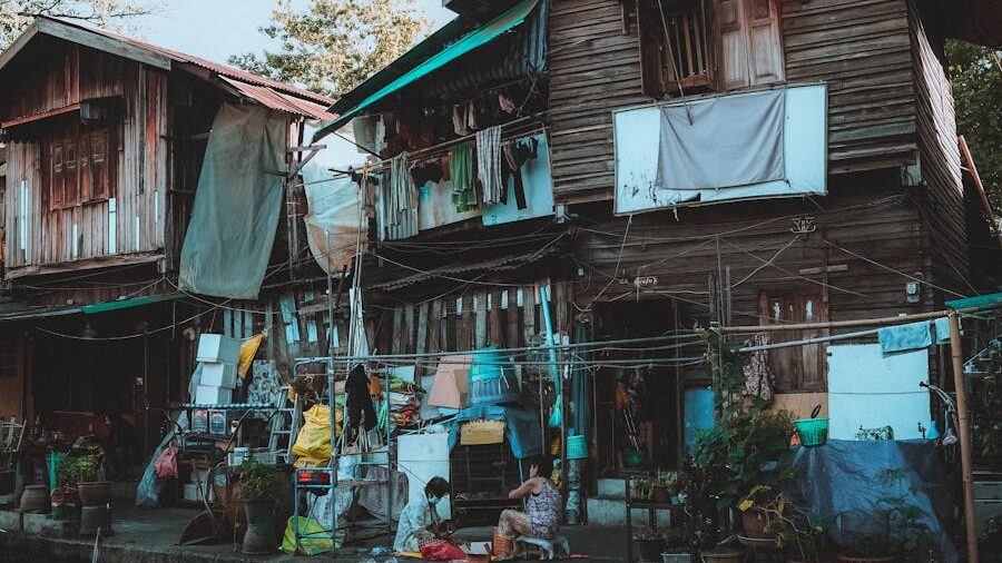
<svg viewBox="0 0 1002 563"><path fill-rule="evenodd" d="M632 2L625 2L632 6ZM552 0L550 124L558 203L612 197L613 109L641 92L637 26L619 0ZM917 161L906 0L784 0L786 79L828 85L829 172Z"/></svg>

